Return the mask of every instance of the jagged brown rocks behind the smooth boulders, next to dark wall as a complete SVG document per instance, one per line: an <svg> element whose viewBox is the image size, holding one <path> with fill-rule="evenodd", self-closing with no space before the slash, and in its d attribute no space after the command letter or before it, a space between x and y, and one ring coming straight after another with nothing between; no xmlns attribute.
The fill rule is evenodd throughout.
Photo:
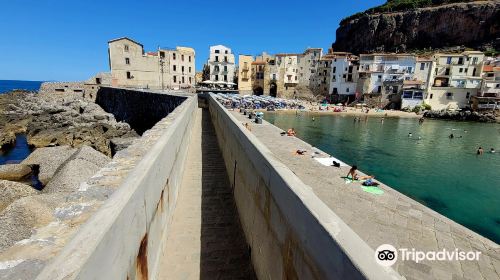
<svg viewBox="0 0 500 280"><path fill-rule="evenodd" d="M138 137L127 123L117 122L83 94L58 92L0 96L0 147L12 146L19 133L26 134L28 144L36 148L90 146L107 156Z"/></svg>

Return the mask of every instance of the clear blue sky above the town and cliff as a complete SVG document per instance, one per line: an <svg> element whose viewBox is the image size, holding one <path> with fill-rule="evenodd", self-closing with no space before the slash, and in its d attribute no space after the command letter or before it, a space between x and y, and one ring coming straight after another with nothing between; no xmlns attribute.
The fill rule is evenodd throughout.
<svg viewBox="0 0 500 280"><path fill-rule="evenodd" d="M84 80L109 71L107 41L146 50L190 46L199 71L208 47L235 54L327 49L340 20L385 0L15 0L0 4L0 80Z"/></svg>

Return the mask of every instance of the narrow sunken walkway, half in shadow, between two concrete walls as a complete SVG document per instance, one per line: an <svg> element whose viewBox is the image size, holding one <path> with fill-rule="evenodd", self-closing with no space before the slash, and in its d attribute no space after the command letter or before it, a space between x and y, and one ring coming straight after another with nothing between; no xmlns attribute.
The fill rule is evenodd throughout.
<svg viewBox="0 0 500 280"><path fill-rule="evenodd" d="M255 279L210 114L198 110L159 279Z"/></svg>

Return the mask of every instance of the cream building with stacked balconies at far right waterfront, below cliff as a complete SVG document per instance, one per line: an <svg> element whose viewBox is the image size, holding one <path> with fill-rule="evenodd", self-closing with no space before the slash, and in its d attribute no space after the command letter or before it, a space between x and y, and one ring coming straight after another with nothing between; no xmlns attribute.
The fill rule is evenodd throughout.
<svg viewBox="0 0 500 280"><path fill-rule="evenodd" d="M433 110L469 107L481 89L483 59L479 51L435 54L424 102Z"/></svg>

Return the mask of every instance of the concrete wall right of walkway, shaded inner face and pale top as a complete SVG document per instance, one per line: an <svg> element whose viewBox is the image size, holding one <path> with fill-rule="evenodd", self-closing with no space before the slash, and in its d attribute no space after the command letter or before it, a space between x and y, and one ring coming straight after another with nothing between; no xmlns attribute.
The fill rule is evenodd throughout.
<svg viewBox="0 0 500 280"><path fill-rule="evenodd" d="M259 279L398 279L213 97L210 114Z"/></svg>

